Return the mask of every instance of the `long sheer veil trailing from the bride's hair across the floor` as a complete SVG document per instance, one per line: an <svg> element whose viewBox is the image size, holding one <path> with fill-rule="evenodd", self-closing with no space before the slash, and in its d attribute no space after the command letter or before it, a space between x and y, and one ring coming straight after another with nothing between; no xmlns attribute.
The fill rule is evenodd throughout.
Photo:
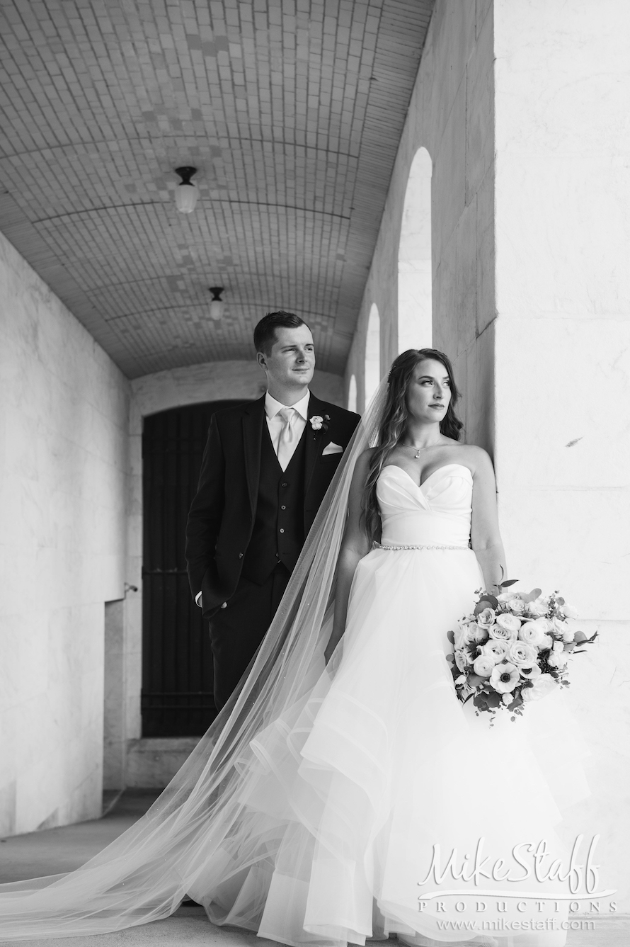
<svg viewBox="0 0 630 947"><path fill-rule="evenodd" d="M359 422L249 673L182 769L138 822L69 874L0 885L0 937L104 934L166 918L216 858L243 871L274 836L248 814L243 782L260 763L255 737L300 706L324 672L348 491L376 441L387 384ZM338 648L328 665L334 674Z"/></svg>

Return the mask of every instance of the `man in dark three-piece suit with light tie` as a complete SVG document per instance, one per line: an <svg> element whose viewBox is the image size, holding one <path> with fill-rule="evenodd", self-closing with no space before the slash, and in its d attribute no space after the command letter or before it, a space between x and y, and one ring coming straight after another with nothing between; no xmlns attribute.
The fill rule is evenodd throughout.
<svg viewBox="0 0 630 947"><path fill-rule="evenodd" d="M315 349L299 316L268 313L254 346L267 392L213 416L186 526L190 588L210 619L217 709L271 624L359 423L309 392Z"/></svg>

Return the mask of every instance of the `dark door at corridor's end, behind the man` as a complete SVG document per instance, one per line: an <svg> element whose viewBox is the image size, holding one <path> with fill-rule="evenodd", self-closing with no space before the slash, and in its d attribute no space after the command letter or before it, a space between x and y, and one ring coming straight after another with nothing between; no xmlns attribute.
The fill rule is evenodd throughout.
<svg viewBox="0 0 630 947"><path fill-rule="evenodd" d="M217 713L208 627L186 575L185 526L210 418L239 403L193 404L145 418L143 737L201 736Z"/></svg>

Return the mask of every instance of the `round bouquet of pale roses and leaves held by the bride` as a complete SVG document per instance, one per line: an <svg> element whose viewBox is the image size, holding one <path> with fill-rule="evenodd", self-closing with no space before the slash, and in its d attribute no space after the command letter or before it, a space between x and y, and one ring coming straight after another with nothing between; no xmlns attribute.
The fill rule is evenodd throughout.
<svg viewBox="0 0 630 947"><path fill-rule="evenodd" d="M540 589L529 595L505 591L515 582L502 582L496 596L480 590L473 614L448 632L453 653L447 660L458 697L464 703L472 698L478 716L492 714L491 725L499 709L515 720L528 701L568 688L569 655L597 637L569 627L567 619L577 612L557 592L544 597Z"/></svg>

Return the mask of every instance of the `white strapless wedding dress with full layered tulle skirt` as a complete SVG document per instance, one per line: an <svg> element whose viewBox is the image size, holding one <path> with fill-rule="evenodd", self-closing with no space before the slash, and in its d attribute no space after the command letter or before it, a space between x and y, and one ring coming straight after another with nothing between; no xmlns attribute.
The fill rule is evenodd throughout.
<svg viewBox="0 0 630 947"><path fill-rule="evenodd" d="M560 695L528 705L516 723L501 714L493 728L456 698L446 633L482 586L468 546L468 469L447 464L418 487L388 465L377 497L381 547L359 562L341 661L257 735L234 846L198 846L186 889L216 923L296 947L394 932L413 944L493 943L483 939L491 932L510 947L561 945L567 901L552 895L569 887L537 881L524 847L546 840L569 861L554 826L559 802L587 793L575 726ZM481 838L485 864L502 859L510 881L428 878L434 846L442 872L456 849L457 874ZM530 868L520 882L518 844ZM529 901L523 911L505 892L545 907ZM505 926L515 920L517 933Z"/></svg>

